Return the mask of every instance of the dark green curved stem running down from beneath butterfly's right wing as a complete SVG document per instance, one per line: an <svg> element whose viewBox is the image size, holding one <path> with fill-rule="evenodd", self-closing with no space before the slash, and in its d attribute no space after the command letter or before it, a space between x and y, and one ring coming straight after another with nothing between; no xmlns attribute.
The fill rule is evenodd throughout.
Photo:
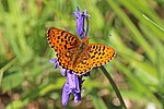
<svg viewBox="0 0 164 109"><path fill-rule="evenodd" d="M121 107L124 107L125 109L127 109L127 107L125 105L125 101L124 101L124 99L122 99L122 97L121 97L121 95L119 93L119 89L117 88L114 80L112 78L112 76L109 75L109 73L106 71L106 69L104 66L101 66L101 70L106 75L106 77L108 78L109 83L112 84L112 86L113 86L113 88L114 88L114 90L115 90L115 93L116 93L116 95L117 95L117 97L118 97L118 99L120 101Z"/></svg>

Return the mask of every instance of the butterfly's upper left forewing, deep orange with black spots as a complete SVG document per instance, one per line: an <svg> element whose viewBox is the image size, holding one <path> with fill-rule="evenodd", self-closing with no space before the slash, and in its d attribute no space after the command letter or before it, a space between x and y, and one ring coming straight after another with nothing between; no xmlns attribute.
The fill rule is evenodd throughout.
<svg viewBox="0 0 164 109"><path fill-rule="evenodd" d="M71 33L52 27L48 29L47 40L49 46L58 53L67 52L69 49L78 47L80 43L79 38Z"/></svg>

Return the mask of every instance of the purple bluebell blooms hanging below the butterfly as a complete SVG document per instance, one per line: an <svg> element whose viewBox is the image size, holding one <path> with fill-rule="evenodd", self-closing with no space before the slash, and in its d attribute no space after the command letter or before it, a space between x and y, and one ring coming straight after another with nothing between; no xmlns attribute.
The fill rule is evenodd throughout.
<svg viewBox="0 0 164 109"><path fill-rule="evenodd" d="M57 58L51 59L50 63L55 63L55 69L59 68ZM68 105L70 94L73 94L75 104L80 102L81 101L81 86L84 80L82 80L82 76L80 77L73 74L73 72L70 70L60 69L60 72L63 76L67 76L67 81L62 87L62 101L61 101L62 105L63 106ZM84 76L89 76L89 75L90 73L84 74Z"/></svg>

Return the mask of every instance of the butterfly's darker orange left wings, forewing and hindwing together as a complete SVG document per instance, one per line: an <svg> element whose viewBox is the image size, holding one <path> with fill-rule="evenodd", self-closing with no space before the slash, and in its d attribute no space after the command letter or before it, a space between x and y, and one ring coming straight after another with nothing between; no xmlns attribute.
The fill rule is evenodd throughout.
<svg viewBox="0 0 164 109"><path fill-rule="evenodd" d="M69 32L59 28L49 28L47 32L47 40L49 46L57 51L59 65L65 69L71 65L71 56L79 46L80 39Z"/></svg>

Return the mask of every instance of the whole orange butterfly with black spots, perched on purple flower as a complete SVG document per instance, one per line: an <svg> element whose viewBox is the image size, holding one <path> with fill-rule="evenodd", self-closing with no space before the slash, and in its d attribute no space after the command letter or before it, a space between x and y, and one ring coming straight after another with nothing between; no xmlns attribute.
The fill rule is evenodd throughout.
<svg viewBox="0 0 164 109"><path fill-rule="evenodd" d="M47 32L49 46L57 52L59 65L82 75L93 68L108 63L116 55L108 46L89 44L89 37L79 39L63 29L51 27Z"/></svg>

